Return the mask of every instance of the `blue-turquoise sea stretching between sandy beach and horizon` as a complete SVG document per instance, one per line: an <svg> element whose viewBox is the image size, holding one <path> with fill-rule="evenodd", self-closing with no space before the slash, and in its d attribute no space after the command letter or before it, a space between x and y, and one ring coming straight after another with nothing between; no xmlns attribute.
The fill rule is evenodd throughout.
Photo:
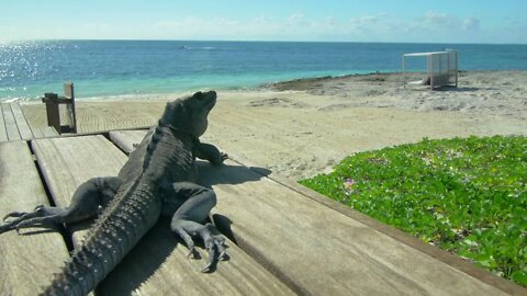
<svg viewBox="0 0 527 296"><path fill-rule="evenodd" d="M527 70L527 45L35 41L0 43L0 101L74 81L79 99L247 89L277 81L401 71L402 54L458 50L460 70ZM416 60L415 67L423 68Z"/></svg>

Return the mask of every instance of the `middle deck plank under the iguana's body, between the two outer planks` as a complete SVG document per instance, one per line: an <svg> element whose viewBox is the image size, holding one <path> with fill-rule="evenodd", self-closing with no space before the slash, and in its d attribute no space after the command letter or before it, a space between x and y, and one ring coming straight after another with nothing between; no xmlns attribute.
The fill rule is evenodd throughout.
<svg viewBox="0 0 527 296"><path fill-rule="evenodd" d="M102 136L34 140L33 149L49 191L66 205L76 186L96 175L115 175L126 160ZM76 243L80 241L74 237ZM211 274L201 273L204 260L189 260L187 248L161 220L132 253L101 283L108 295L292 295L282 282L234 243L231 260ZM200 250L201 257L206 254Z"/></svg>

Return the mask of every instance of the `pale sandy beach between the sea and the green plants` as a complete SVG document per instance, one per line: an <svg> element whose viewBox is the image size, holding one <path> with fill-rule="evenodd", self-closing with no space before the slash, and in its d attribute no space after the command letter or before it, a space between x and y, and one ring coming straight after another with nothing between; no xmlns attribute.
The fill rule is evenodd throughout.
<svg viewBox="0 0 527 296"><path fill-rule="evenodd" d="M461 72L459 88L436 91L400 81L374 73L218 91L203 139L295 181L329 172L355 152L424 137L527 135L525 71ZM153 125L166 101L180 95L79 100L79 132ZM23 111L33 127L46 124L42 103Z"/></svg>

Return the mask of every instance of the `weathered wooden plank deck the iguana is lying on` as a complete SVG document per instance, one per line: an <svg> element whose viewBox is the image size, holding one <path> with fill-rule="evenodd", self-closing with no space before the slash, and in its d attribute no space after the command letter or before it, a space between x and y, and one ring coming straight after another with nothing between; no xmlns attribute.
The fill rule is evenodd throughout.
<svg viewBox="0 0 527 296"><path fill-rule="evenodd" d="M49 201L67 205L87 179L115 175L145 133L0 143L0 216ZM229 260L201 273L204 260L188 259L184 243L160 220L96 295L527 295L246 160L199 168L201 183L217 194L212 219L229 238ZM85 232L76 226L0 235L0 294L34 295Z"/></svg>

